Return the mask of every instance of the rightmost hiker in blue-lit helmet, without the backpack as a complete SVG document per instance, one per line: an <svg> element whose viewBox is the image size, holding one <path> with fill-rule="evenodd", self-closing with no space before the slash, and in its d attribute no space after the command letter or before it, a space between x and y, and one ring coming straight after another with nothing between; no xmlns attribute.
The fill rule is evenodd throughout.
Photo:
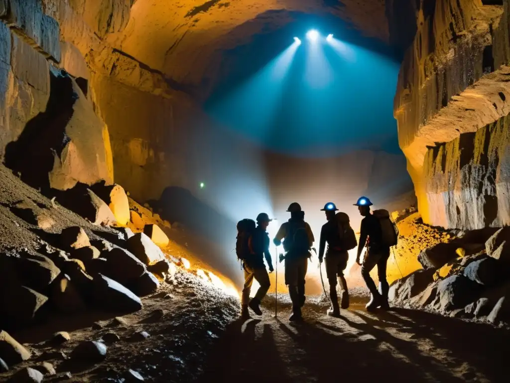
<svg viewBox="0 0 510 383"><path fill-rule="evenodd" d="M356 263L361 265L360 257L363 248L367 248L365 259L361 267L361 275L370 290L371 299L367 304L367 310L373 310L377 307L389 308L388 292L390 286L386 279L386 267L390 258L390 248L382 243L382 231L379 220L370 213L372 202L367 197L360 197L354 206L358 206L360 214L364 217L361 221L360 242L358 245L358 255ZM381 286L381 292L377 290L373 279L370 277L370 271L377 266L377 276Z"/></svg>

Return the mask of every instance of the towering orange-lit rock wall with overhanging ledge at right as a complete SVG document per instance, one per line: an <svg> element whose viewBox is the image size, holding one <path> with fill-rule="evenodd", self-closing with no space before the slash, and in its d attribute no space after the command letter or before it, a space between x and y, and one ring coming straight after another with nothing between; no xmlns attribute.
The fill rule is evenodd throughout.
<svg viewBox="0 0 510 383"><path fill-rule="evenodd" d="M509 71L505 66L510 60L508 2L483 3L488 4L480 0L421 0L417 33L400 68L394 103L399 144L423 220L432 225L474 229L502 224L508 214L504 195L488 191L505 188L507 179L499 179L500 185L496 185L495 179L479 171L479 152L466 149L461 155L458 147L466 140L460 140L462 134L478 137L482 134L476 133L479 129L487 130L488 124L509 112ZM506 141L498 145L508 145L507 136L500 138ZM483 151L481 143L470 143L473 145ZM439 152L448 163L444 173L437 165ZM466 157L468 153L471 157ZM468 163L471 165L466 167ZM476 201L475 206L467 203L468 196ZM483 209L490 198L497 198L503 209L497 218L488 207Z"/></svg>

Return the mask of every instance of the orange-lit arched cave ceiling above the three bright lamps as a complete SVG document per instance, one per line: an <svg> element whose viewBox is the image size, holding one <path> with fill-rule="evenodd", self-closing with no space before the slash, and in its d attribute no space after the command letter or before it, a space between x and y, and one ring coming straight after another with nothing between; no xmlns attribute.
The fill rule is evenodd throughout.
<svg viewBox="0 0 510 383"><path fill-rule="evenodd" d="M389 41L385 0L136 0L127 26L106 38L172 82L203 93L224 65L223 52L300 15L335 19L363 36Z"/></svg>

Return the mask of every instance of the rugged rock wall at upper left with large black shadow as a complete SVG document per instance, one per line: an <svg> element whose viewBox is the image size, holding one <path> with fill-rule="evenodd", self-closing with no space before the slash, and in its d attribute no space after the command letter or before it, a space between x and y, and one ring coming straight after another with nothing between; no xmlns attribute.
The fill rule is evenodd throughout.
<svg viewBox="0 0 510 383"><path fill-rule="evenodd" d="M0 21L0 158L35 187L113 182L108 127L59 67L58 21L38 0L3 0Z"/></svg>

